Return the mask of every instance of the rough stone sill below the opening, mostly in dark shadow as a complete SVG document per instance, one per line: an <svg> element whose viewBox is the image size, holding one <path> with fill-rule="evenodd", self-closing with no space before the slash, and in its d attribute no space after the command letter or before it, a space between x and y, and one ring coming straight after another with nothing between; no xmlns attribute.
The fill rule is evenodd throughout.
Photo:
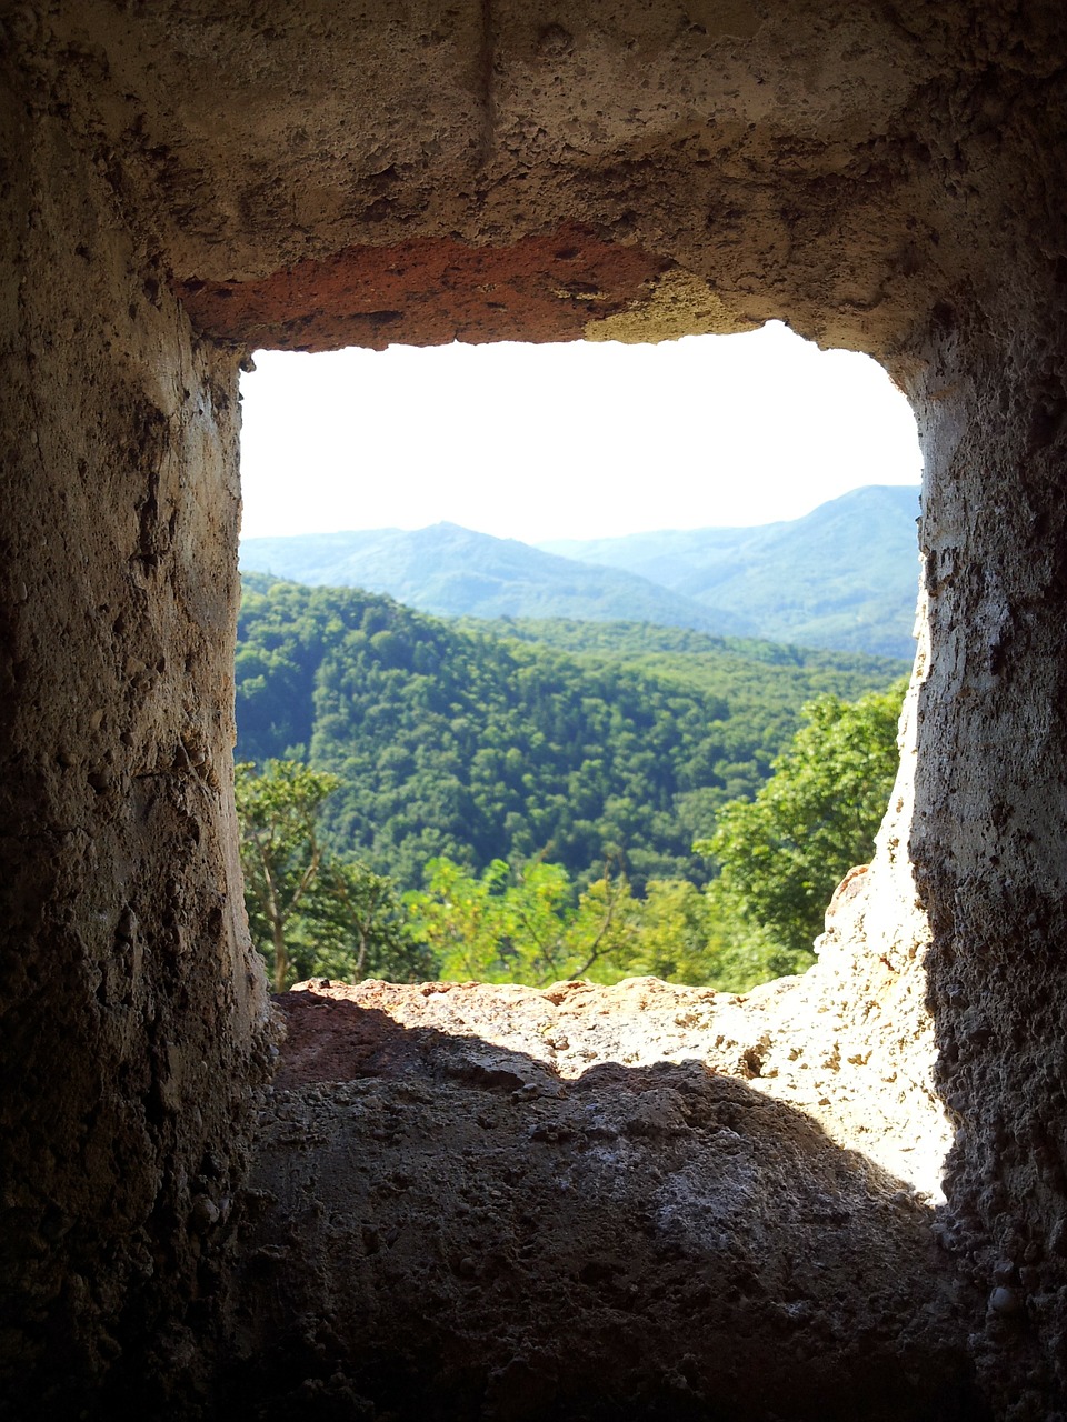
<svg viewBox="0 0 1067 1422"><path fill-rule="evenodd" d="M279 998L226 1349L246 1415L983 1416L984 1298L930 1204L775 1099L802 991ZM835 1068L802 1068L828 1103Z"/></svg>

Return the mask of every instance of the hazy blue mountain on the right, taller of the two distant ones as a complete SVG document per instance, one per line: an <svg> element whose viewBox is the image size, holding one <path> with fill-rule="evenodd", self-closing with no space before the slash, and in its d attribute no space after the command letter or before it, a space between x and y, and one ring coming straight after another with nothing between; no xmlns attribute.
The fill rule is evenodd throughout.
<svg viewBox="0 0 1067 1422"><path fill-rule="evenodd" d="M734 611L761 637L911 657L918 495L918 488L868 485L782 523L559 539L542 547Z"/></svg>

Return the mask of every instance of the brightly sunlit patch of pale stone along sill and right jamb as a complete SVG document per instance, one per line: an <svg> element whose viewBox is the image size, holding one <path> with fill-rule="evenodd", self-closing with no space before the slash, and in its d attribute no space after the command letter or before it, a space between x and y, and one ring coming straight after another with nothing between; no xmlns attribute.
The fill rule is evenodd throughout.
<svg viewBox="0 0 1067 1422"><path fill-rule="evenodd" d="M913 725L913 722L908 721L906 725ZM902 816L906 816L908 812L912 764L909 758L913 757L913 749L908 748L908 735L905 728L905 766L879 838L875 865L864 876L852 875L829 906L827 933L821 939L824 963L811 975L808 987L791 985L787 990L781 984L771 983L747 994L743 1000L727 1003L723 994L716 1001L716 994L708 990L660 988L646 984L640 990L632 990L630 994L630 1007L636 1011L636 1018L643 1018L647 1022L654 1015L653 1007L666 1011L664 1003L674 1003L673 1025L670 1030L664 1028L659 1035L653 1034L649 1041L642 1041L640 1034L635 1035L632 1031L633 1039L626 1047L617 1044L609 1047L599 1038L593 1047L593 1038L586 1041L580 1031L572 1031L555 1020L563 1011L563 1004L573 1005L583 1001L582 993L586 990L572 987L561 1004L552 1010L552 1020L546 1018L536 1031L528 1021L524 1021L522 1025L501 1027L504 1032L501 1041L511 1041L512 1047L515 1041L521 1041L543 1066L563 1075L568 1072L580 1075L589 1068L589 1062L599 1061L602 1054L610 1055L612 1051L616 1057L630 1062L644 1061L647 1052L670 1057L691 1051L713 1062L717 1071L727 1071L740 1079L753 1082L754 1089L760 1092L791 1103L802 1102L804 1109L809 1111L824 1126L827 1122L832 1122L832 1132L842 1139L851 1139L848 1132L865 1109L855 1105L856 1101L866 1099L866 1086L862 1084L876 1074L876 1064L881 1058L885 1058L883 1078L889 1078L898 1071L895 1054L901 1051L903 1039L901 1034L906 1035L906 1024L912 1022L915 1027L916 1018L915 994L911 988L901 988L899 984L902 967L923 951L925 930L920 916L909 923L892 919L876 921L875 914L864 909L864 916L859 920L859 930L864 936L862 970L855 963L856 944L854 941L859 887L862 886L868 892L875 886L875 892L878 892L878 886L882 886L881 893L888 900L899 893L901 876L911 873L906 855L901 853L899 836ZM865 904L866 899L861 902ZM842 966L845 960L848 960L848 967ZM876 984L872 987L875 980ZM350 991L337 984L324 985L323 983L313 983L310 991L317 997L326 994L346 1001L359 1000L367 1004L374 1001L378 1007L383 993L390 1003L394 1003L394 998L390 997L394 991L404 997L404 990L371 987ZM464 1037L465 1008L455 1017L455 1004L465 995L477 1003L479 994L489 991L488 987L485 990L445 990L441 987L432 991L424 990L421 995L407 993L404 1001L407 1003L410 997L411 1003L403 1008L396 1007L396 1010L401 1012L404 1021L421 1022L427 1030L431 1027L434 1031L444 1030L442 1024L451 1022L448 1030L455 1030L460 1037ZM548 1001L538 997L538 990L528 991L534 1000ZM596 998L606 994L605 1001L612 1001L612 990L590 988L588 991ZM875 1032L874 1037L869 1037L864 1022L852 1020L854 1007L849 994L854 991L878 991L886 998L899 995L901 1012L888 1014L895 1018L892 1031L881 1035ZM637 995L633 997L633 993ZM666 994L666 998L656 1000L657 993ZM474 995L471 997L471 994ZM616 994L616 997L622 1000L626 994ZM396 1003L398 1001L400 998L396 1000ZM287 1010L299 1011L296 1007ZM478 1007L478 1011L482 1008ZM444 1017L441 1017L442 1012ZM896 1021L898 1015L899 1021ZM824 1030L828 1022L834 1022L834 1031L827 1037ZM918 1031L918 1027L915 1030ZM512 1032L518 1034L514 1039ZM912 1109L909 1092L913 1089L929 1091L926 1074L930 1065L932 1054L928 1052L918 1066L909 1068L916 1079L911 1082L908 1091L898 1092L896 1109L883 1113L878 1130L864 1126L862 1133L865 1150L869 1152L872 1160L899 1177L903 1182L902 1187L913 1190L916 1199L936 1202L940 1197L940 1163L946 1149L945 1126L942 1123L938 1129L928 1132L918 1143L903 1126ZM842 1084L848 1085L842 1086ZM516 1078L515 1089L521 1091L529 1085L534 1084ZM844 1105L845 1101L851 1101L852 1105Z"/></svg>

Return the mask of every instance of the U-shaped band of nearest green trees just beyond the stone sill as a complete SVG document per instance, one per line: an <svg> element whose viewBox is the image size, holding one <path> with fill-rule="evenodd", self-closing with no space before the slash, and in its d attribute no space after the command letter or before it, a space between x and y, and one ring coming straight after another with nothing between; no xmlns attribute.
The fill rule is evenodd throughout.
<svg viewBox="0 0 1067 1422"><path fill-rule="evenodd" d="M866 859L896 765L902 687L854 705L824 695L754 801L723 808L697 850L721 865L707 893L652 879L633 894L617 866L582 892L558 863L481 872L440 856L428 886L323 852L317 822L337 776L270 761L238 766L249 921L280 990L296 975L475 978L546 985L652 974L744 991L802 971L841 875Z"/></svg>

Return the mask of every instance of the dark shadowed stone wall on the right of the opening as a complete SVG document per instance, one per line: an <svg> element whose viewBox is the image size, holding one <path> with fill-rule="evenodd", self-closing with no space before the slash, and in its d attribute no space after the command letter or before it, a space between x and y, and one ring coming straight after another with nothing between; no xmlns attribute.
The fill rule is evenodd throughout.
<svg viewBox="0 0 1067 1422"><path fill-rule="evenodd" d="M1067 395L1060 293L1033 294L960 304L923 375L942 458L925 493L935 656L911 836L956 1128L946 1243L989 1300L973 1340L989 1392L1026 1418L1067 1385Z"/></svg>

